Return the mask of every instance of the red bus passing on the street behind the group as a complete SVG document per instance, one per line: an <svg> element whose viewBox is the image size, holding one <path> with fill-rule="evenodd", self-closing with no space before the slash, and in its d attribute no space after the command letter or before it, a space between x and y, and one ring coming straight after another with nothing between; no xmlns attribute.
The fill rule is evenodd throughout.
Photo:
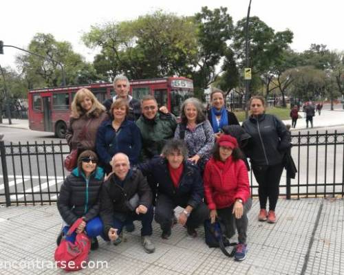
<svg viewBox="0 0 344 275"><path fill-rule="evenodd" d="M91 90L99 102L114 96L112 83L94 83L28 91L29 127L35 131L54 132L63 138L69 121L70 105L81 88ZM180 115L182 102L193 96L193 81L184 77L131 80L129 93L141 99L151 94L159 107L166 106L174 115Z"/></svg>

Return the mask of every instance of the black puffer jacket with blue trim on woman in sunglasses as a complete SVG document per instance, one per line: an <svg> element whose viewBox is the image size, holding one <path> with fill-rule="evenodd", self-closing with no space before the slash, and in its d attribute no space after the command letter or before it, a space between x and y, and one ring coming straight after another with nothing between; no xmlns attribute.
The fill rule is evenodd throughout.
<svg viewBox="0 0 344 275"><path fill-rule="evenodd" d="M78 168L66 177L57 199L58 212L63 221L72 225L80 217L89 221L99 214L103 177L104 172L100 167L96 168L88 182Z"/></svg>

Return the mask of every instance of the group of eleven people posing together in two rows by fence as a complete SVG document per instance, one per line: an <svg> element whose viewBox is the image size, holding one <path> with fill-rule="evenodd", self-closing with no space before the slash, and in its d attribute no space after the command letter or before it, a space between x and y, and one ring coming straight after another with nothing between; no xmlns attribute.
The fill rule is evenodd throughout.
<svg viewBox="0 0 344 275"><path fill-rule="evenodd" d="M138 220L144 251L152 253L153 219L162 239L169 239L175 223L196 237L211 219L221 221L227 238L237 230L235 260L244 260L252 206L246 158L259 184L258 219L275 223L283 155L290 146L283 122L265 113L261 96L250 99L251 115L241 127L219 89L211 93L208 113L200 100L186 99L180 123L166 107L158 109L153 96L131 98L125 76L116 76L114 89L116 96L103 104L88 89L72 102L66 139L78 150L78 162L58 196L64 226L57 242L82 217L69 241L86 232L93 250L97 236L118 245L123 228L134 230Z"/></svg>

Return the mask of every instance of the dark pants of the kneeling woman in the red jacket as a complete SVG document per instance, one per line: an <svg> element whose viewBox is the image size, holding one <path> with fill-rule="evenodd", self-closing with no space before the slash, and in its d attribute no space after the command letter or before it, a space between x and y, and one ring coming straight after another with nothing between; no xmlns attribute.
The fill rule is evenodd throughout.
<svg viewBox="0 0 344 275"><path fill-rule="evenodd" d="M228 208L217 209L217 215L225 227L224 234L228 239L235 234L235 228L237 228L239 243L246 243L248 228L247 212L252 207L252 199L249 198L246 203L244 203L244 213L240 219L235 218L235 215L233 214L233 206L234 204Z"/></svg>

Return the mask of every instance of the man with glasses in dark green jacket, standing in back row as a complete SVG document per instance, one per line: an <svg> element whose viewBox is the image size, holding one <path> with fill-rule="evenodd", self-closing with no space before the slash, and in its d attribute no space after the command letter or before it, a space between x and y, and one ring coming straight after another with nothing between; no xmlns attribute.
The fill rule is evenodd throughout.
<svg viewBox="0 0 344 275"><path fill-rule="evenodd" d="M142 135L142 159L160 155L167 140L173 138L177 122L171 113L158 111L158 103L153 96L141 100L142 115L136 125Z"/></svg>

